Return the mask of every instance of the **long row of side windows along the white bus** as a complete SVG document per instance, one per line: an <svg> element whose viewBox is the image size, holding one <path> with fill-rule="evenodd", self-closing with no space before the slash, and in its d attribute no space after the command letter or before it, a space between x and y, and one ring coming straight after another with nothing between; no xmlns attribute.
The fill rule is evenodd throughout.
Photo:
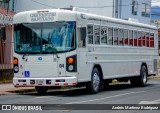
<svg viewBox="0 0 160 113"><path fill-rule="evenodd" d="M91 24L87 29L89 44L154 47L154 33Z"/></svg>

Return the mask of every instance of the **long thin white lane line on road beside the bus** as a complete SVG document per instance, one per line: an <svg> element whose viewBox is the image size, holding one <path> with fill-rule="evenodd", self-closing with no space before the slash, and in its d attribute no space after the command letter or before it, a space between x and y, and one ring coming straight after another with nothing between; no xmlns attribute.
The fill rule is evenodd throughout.
<svg viewBox="0 0 160 113"><path fill-rule="evenodd" d="M79 103L93 102L93 101L104 100L104 99L109 99L109 98L113 98L113 97L120 97L120 96L137 94L137 93L144 93L144 92L146 92L146 91L130 92L130 93L124 93L124 94L119 94L119 95L114 95L114 96L109 96L109 97L97 98L97 99L93 99L93 100L70 102L70 103L66 103L66 104L79 104Z"/></svg>

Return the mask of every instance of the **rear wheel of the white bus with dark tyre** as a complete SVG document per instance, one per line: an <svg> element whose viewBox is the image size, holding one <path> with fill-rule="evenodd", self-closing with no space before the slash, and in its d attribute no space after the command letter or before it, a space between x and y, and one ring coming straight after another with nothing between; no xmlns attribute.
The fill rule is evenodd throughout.
<svg viewBox="0 0 160 113"><path fill-rule="evenodd" d="M147 84L147 76L148 76L148 70L145 65L142 65L140 70L140 76L138 77L132 77L130 79L130 82L133 86L140 86L144 87Z"/></svg>

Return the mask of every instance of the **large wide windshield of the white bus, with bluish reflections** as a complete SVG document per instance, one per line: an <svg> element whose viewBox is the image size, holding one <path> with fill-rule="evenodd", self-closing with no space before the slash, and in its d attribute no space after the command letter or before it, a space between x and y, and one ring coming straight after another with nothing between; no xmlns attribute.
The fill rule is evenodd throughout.
<svg viewBox="0 0 160 113"><path fill-rule="evenodd" d="M14 25L17 53L54 53L76 48L75 22L21 23Z"/></svg>

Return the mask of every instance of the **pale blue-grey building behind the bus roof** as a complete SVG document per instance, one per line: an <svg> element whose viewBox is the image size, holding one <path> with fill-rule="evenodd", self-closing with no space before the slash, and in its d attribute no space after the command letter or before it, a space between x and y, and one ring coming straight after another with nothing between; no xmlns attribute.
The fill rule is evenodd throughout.
<svg viewBox="0 0 160 113"><path fill-rule="evenodd" d="M15 0L15 12L73 6L89 13L150 24L151 0Z"/></svg>

